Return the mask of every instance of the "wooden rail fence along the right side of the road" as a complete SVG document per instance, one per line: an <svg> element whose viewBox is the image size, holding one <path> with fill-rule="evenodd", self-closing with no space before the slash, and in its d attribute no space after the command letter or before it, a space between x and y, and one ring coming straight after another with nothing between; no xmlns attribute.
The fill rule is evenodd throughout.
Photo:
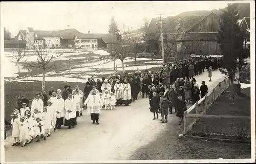
<svg viewBox="0 0 256 164"><path fill-rule="evenodd" d="M217 86L211 89L206 95L198 102L193 104L184 112L184 134L186 135L190 131L194 124L199 121L199 118L246 118L244 116L233 115L206 115L207 109L212 103L215 103L216 99L221 96L221 93L229 87L229 80L224 79ZM204 104L202 103L204 102ZM199 108L199 105L203 107Z"/></svg>

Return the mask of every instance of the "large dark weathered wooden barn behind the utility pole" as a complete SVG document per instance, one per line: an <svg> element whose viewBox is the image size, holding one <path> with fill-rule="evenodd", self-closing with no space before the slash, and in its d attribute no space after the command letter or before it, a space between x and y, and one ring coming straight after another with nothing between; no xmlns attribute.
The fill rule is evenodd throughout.
<svg viewBox="0 0 256 164"><path fill-rule="evenodd" d="M169 16L163 22L163 42L165 54L176 55L197 53L220 55L217 43L220 17L215 13L204 16ZM152 19L148 28L147 39L160 43L160 25ZM167 44L168 42L168 44ZM166 51L166 50L172 51Z"/></svg>

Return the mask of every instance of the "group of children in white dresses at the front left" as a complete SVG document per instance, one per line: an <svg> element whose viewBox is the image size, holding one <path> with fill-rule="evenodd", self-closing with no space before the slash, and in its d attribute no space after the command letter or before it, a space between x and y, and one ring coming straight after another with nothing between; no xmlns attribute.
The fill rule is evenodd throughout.
<svg viewBox="0 0 256 164"><path fill-rule="evenodd" d="M11 114L12 146L22 144L24 147L26 144L30 144L34 138L36 138L36 142L39 142L40 138L46 140L46 134L48 137L51 136L53 110L49 108L51 108L51 101L48 101L48 108L44 106L42 112L34 109L34 113L31 114L26 103L22 104L20 112L18 109L13 111Z"/></svg>

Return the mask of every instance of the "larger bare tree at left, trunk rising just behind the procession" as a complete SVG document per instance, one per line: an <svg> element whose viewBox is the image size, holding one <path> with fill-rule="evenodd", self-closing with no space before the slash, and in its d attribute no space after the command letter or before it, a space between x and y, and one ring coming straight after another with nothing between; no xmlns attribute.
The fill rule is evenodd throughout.
<svg viewBox="0 0 256 164"><path fill-rule="evenodd" d="M50 42L49 42L50 43ZM53 58L57 58L63 54L63 52L60 52L58 54L49 54L47 51L48 45L44 45L44 43L40 44L39 42L35 43L28 41L28 44L33 46L34 48L34 53L37 57L37 62L35 63L29 63L26 61L26 64L28 67L34 67L37 69L42 70L42 91L45 90L45 74L47 69L54 69L56 68L55 62L51 63Z"/></svg>

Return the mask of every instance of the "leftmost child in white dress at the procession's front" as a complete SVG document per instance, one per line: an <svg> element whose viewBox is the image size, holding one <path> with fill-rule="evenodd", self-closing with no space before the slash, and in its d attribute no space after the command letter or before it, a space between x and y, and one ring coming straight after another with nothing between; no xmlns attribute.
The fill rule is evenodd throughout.
<svg viewBox="0 0 256 164"><path fill-rule="evenodd" d="M19 120L19 117L18 115L13 112L11 114L11 117L12 117L12 137L13 137L13 141L14 143L12 144L12 146L18 146L20 143L19 143L19 129L20 129L20 125L22 125L22 123L20 123L20 120Z"/></svg>

